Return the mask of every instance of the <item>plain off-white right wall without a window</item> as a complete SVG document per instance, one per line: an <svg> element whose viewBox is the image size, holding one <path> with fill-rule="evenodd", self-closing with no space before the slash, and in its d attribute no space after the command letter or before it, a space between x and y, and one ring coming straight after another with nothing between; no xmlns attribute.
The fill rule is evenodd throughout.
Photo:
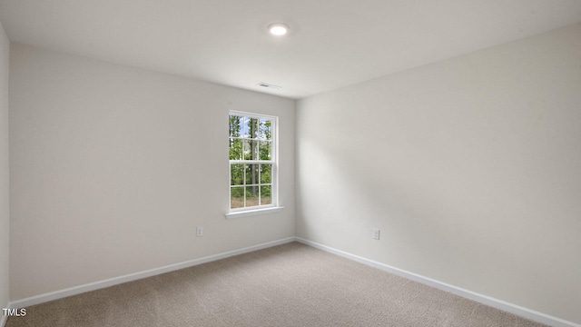
<svg viewBox="0 0 581 327"><path fill-rule="evenodd" d="M581 322L581 25L312 96L296 124L300 237Z"/></svg>

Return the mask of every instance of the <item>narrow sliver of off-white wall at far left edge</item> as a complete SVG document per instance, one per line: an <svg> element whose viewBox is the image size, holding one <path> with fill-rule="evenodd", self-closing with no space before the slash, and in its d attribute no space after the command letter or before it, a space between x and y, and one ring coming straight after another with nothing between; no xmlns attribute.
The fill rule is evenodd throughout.
<svg viewBox="0 0 581 327"><path fill-rule="evenodd" d="M8 67L10 41L0 24L0 309L8 303L8 231L10 224L8 174ZM0 324L2 316L0 315Z"/></svg>

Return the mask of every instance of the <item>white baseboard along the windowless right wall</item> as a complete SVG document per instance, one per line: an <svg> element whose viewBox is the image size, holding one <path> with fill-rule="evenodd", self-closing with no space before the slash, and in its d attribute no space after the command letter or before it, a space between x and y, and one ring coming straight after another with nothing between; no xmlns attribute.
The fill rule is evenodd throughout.
<svg viewBox="0 0 581 327"><path fill-rule="evenodd" d="M491 307L496 308L498 310L517 314L518 316L527 318L527 319L534 321L534 322L544 323L544 324L547 324L547 325L553 326L553 327L581 327L581 324L578 324L576 322L568 322L564 319L557 318L557 317L548 315L548 314L543 313L543 312L537 312L534 310L530 310L530 309L518 306L518 305L513 304L513 303L509 303L506 301L492 298L492 297L487 296L487 295L479 294L477 292L468 291L468 290L465 290L463 288L460 288L460 287L457 287L454 285L450 285L446 282L439 282L439 281L428 278L426 276L419 275L419 274L414 273L414 272L408 272L408 271L405 271L405 270L402 270L402 269L399 269L396 267L392 267L388 264L378 263L378 262L360 257L359 255L346 253L344 251L334 249L334 248L327 246L327 245L311 242L309 240L305 240L305 239L300 238L300 237L297 237L296 241L310 245L314 248L317 248L317 249L320 249L320 250L323 250L323 251L326 251L329 253L334 253L334 254L340 255L344 258L356 261L358 263L367 264L371 267L378 268L378 269L385 271L385 272L391 272L393 274L407 278L407 279L412 280L414 282L421 282L425 285L437 288L438 290L442 290L445 292L451 292L451 293L456 294L458 296L461 296L461 297L467 298L469 300L485 304L487 306L491 306Z"/></svg>

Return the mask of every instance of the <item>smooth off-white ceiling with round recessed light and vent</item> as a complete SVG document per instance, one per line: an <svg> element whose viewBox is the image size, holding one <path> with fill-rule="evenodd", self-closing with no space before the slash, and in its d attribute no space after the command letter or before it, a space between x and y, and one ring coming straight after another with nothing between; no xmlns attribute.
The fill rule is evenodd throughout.
<svg viewBox="0 0 581 327"><path fill-rule="evenodd" d="M15 43L303 98L580 23L581 1L0 0L0 22Z"/></svg>

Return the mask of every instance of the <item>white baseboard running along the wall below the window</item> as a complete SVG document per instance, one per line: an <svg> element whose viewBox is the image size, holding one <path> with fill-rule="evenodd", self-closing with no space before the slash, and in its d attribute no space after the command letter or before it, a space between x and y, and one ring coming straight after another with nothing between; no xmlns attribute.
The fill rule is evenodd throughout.
<svg viewBox="0 0 581 327"><path fill-rule="evenodd" d="M90 292L90 291L102 289L105 287L117 285L117 284L120 284L123 282L133 282L136 280L151 277L151 276L158 275L161 273L173 272L173 271L180 270L183 268L192 267L192 266L195 266L198 264L210 263L213 261L217 261L217 260L221 260L221 259L225 259L225 258L234 256L234 255L239 255L239 254L243 254L243 253L251 253L254 251L270 248L272 246L281 245L284 243L291 243L294 241L296 241L295 237L288 237L285 239L272 241L272 242L268 242L268 243L261 243L261 244L257 244L257 245L252 245L249 247L245 247L242 249L233 250L233 251L229 251L229 252L225 252L225 253L213 254L213 255L209 255L206 257L199 258L199 259L193 259L193 260L183 262L183 263L174 263L174 264L166 265L166 266L163 266L160 268L150 269L150 270L147 270L144 272L130 273L130 274L126 274L126 275L119 276L119 277L109 278L109 279L99 281L99 282L90 282L90 283L87 283L84 285L70 287L70 288L67 288L64 290L60 290L60 291L47 292L44 294L35 295L35 296L31 296L31 297L28 297L25 299L9 302L7 308L10 308L10 309L25 308L27 306L34 305L34 304L39 304L39 303L49 302L49 301L53 301L53 300L57 300L57 299L62 299L62 298L67 297L67 296L76 295L76 294L80 294L83 292ZM2 322L4 322L4 321L2 321ZM4 327L4 324L0 324L0 326Z"/></svg>

